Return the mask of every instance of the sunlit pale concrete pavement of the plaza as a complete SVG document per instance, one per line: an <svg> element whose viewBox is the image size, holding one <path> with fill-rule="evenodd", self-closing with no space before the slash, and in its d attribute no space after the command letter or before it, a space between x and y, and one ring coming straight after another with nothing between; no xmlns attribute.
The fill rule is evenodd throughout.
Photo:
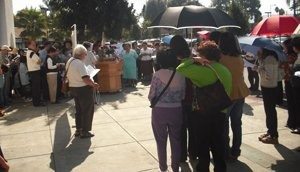
<svg viewBox="0 0 300 172"><path fill-rule="evenodd" d="M91 139L73 136L73 100L39 108L15 102L0 118L0 145L11 172L157 172L148 91L149 86L138 85L102 94ZM300 136L284 127L287 111L277 108L277 112L280 144L262 144L257 139L266 131L262 99L256 95L246 99L242 155L238 162L228 163L228 171L299 172L300 153L295 149ZM193 171L195 163L182 164L182 171Z"/></svg>

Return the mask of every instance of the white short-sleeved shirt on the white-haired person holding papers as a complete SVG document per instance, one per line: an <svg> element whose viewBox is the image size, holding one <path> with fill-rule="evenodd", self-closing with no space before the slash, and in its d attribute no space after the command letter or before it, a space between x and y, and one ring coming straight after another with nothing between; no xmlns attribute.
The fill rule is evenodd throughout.
<svg viewBox="0 0 300 172"><path fill-rule="evenodd" d="M89 75L81 60L70 58L66 64L66 70L68 70L67 78L70 87L84 87L87 85L83 82L83 77L89 77Z"/></svg>

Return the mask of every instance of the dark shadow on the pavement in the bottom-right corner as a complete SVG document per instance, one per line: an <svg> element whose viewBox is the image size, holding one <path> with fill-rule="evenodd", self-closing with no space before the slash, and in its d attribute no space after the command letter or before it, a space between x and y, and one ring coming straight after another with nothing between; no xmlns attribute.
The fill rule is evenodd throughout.
<svg viewBox="0 0 300 172"><path fill-rule="evenodd" d="M276 172L298 172L300 168L300 153L290 150L282 144L275 145L283 160L277 160L271 165L271 170ZM288 170L287 170L288 169Z"/></svg>

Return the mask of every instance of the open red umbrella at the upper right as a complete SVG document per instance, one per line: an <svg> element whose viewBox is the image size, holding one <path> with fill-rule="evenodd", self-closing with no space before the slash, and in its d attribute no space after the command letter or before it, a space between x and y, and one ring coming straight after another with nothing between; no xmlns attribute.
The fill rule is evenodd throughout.
<svg viewBox="0 0 300 172"><path fill-rule="evenodd" d="M290 36L293 34L300 20L294 16L277 15L260 21L252 30L250 35L257 36Z"/></svg>

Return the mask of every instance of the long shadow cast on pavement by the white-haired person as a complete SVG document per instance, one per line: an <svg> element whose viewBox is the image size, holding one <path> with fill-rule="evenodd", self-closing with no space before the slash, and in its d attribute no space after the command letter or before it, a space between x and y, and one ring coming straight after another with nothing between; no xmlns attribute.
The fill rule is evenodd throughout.
<svg viewBox="0 0 300 172"><path fill-rule="evenodd" d="M67 113L56 122L50 168L55 171L72 171L92 154L90 139L75 138L71 132Z"/></svg>

